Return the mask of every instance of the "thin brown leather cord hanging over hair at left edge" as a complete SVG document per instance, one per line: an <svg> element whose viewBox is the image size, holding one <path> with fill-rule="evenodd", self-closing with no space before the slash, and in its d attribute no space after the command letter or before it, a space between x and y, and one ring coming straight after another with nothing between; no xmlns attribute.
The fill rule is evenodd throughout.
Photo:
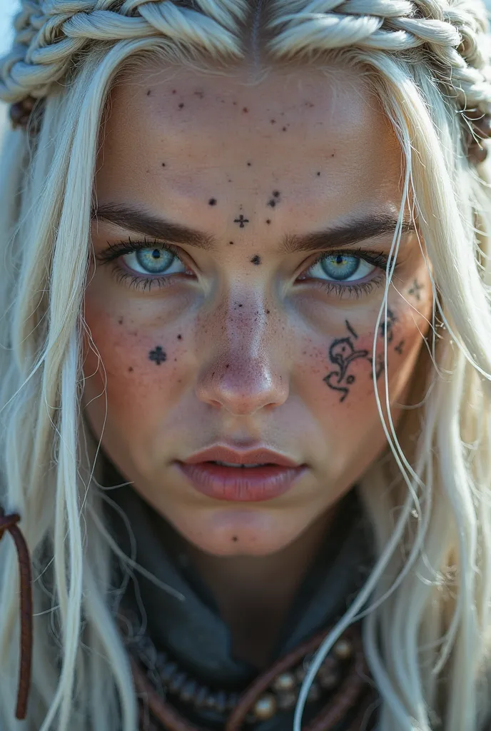
<svg viewBox="0 0 491 731"><path fill-rule="evenodd" d="M31 558L26 539L17 523L20 515L13 512L5 515L4 509L0 506L0 540L5 531L9 531L17 548L19 573L20 573L20 668L17 693L17 708L15 717L25 719L27 713L27 702L29 688L31 686L31 663L32 663L32 573Z"/></svg>

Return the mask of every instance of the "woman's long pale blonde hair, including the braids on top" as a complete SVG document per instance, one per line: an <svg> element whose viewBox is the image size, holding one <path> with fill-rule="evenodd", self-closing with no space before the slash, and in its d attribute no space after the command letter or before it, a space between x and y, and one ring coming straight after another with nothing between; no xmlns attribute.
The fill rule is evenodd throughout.
<svg viewBox="0 0 491 731"><path fill-rule="evenodd" d="M39 97L42 120L37 134L4 132L0 159L0 504L22 516L33 558L34 657L20 722L18 564L6 539L1 731L137 724L111 565L118 556L127 575L137 566L104 526L80 344L104 107L116 80L149 56L222 72L335 56L363 73L395 127L403 206L411 200L433 281L414 390L422 401L396 434L382 414L387 380L376 389L387 454L359 489L377 561L321 646L294 724L299 731L322 657L363 616L380 731L482 729L491 713L491 194L485 166L465 154L462 110L491 111L486 32L479 0L22 0L0 99ZM399 240L400 231L379 322Z"/></svg>

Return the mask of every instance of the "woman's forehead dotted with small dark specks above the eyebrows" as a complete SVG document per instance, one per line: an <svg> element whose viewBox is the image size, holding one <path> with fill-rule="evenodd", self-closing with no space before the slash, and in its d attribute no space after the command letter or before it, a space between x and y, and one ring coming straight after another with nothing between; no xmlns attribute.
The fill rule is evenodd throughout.
<svg viewBox="0 0 491 731"><path fill-rule="evenodd" d="M310 218L320 204L342 216L360 197L372 207L397 198L399 145L354 70L273 69L257 80L247 69L223 75L148 62L113 88L104 133L98 195L156 211L164 200L235 203L238 192L272 186Z"/></svg>

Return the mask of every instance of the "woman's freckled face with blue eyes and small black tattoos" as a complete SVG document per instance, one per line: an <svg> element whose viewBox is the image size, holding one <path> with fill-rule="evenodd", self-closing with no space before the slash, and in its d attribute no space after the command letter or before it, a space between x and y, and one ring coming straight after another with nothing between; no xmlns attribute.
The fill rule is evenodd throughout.
<svg viewBox="0 0 491 731"><path fill-rule="evenodd" d="M148 65L113 89L85 295L100 358L86 341L84 410L97 436L105 420L125 479L198 548L283 548L384 450L373 339L384 401L387 331L397 423L431 309L408 226L376 331L401 166L354 72L249 83L246 71ZM219 452L183 466L213 446L302 467L218 467L245 461Z"/></svg>

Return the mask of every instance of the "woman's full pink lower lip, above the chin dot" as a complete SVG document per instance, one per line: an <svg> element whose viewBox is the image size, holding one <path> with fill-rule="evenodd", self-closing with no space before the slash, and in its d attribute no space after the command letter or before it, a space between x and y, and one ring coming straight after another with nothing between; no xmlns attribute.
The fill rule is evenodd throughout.
<svg viewBox="0 0 491 731"><path fill-rule="evenodd" d="M224 467L213 462L177 463L199 493L215 500L259 502L288 491L307 467Z"/></svg>

